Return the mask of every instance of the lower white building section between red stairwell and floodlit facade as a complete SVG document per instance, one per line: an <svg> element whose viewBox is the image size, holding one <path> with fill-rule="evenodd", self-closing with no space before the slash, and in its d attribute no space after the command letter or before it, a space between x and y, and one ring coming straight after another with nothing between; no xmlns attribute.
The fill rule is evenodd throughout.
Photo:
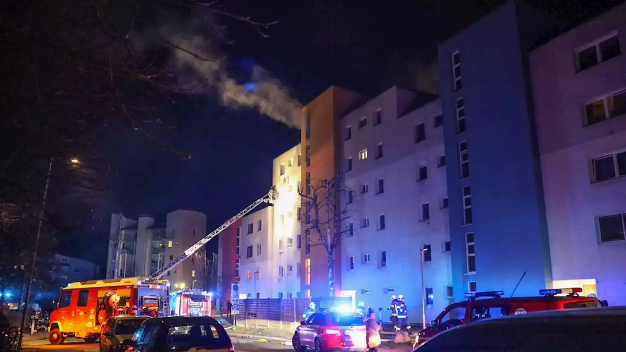
<svg viewBox="0 0 626 352"><path fill-rule="evenodd" d="M239 294L247 298L275 298L274 207L267 204L245 215L241 224Z"/></svg>

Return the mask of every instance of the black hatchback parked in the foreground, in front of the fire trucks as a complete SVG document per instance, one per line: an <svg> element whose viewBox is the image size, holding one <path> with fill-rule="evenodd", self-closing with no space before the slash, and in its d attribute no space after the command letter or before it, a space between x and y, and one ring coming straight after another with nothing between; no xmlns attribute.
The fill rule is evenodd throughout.
<svg viewBox="0 0 626 352"><path fill-rule="evenodd" d="M145 320L123 342L126 352L175 352L217 349L235 352L230 337L217 320L208 316L168 316Z"/></svg>

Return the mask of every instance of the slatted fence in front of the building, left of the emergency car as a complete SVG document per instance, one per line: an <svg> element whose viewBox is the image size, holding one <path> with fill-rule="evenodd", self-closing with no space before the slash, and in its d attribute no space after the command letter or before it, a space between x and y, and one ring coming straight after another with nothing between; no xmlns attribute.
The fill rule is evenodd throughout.
<svg viewBox="0 0 626 352"><path fill-rule="evenodd" d="M237 325L246 328L295 329L310 298L242 299L239 301Z"/></svg>

